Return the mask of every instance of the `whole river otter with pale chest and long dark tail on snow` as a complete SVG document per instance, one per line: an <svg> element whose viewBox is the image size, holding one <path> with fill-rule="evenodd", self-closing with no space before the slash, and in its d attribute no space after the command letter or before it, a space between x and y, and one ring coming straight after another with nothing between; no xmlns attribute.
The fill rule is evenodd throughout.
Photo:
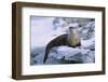
<svg viewBox="0 0 108 82"><path fill-rule="evenodd" d="M57 38L53 39L51 42L48 43L45 47L43 64L45 64L46 62L50 50L54 46L60 46L60 45L67 45L70 47L76 47L76 46L81 45L80 38L79 38L76 27L69 27L68 33L58 36Z"/></svg>

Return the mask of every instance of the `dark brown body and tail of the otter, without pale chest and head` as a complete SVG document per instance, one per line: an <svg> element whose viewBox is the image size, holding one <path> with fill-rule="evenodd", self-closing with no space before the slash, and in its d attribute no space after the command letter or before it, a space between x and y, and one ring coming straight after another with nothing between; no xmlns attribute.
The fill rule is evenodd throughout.
<svg viewBox="0 0 108 82"><path fill-rule="evenodd" d="M80 44L80 41L79 41L76 45L71 45L68 41L68 33L58 36L57 38L55 38L51 42L49 42L49 44L46 45L43 64L45 64L45 62L46 62L50 50L54 46L60 46L60 45L67 45L67 46L70 46L70 47L76 47L76 46L80 46L81 44Z"/></svg>

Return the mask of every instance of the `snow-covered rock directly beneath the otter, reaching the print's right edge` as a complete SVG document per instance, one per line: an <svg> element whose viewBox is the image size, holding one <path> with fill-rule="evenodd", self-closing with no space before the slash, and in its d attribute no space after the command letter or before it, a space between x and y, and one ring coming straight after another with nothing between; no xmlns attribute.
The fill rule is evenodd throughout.
<svg viewBox="0 0 108 82"><path fill-rule="evenodd" d="M93 43L86 43L83 46L69 47L69 46L58 46L56 49L57 53L53 53L53 57L62 60L73 60L79 63L94 63L94 51L91 51L91 45Z"/></svg>

